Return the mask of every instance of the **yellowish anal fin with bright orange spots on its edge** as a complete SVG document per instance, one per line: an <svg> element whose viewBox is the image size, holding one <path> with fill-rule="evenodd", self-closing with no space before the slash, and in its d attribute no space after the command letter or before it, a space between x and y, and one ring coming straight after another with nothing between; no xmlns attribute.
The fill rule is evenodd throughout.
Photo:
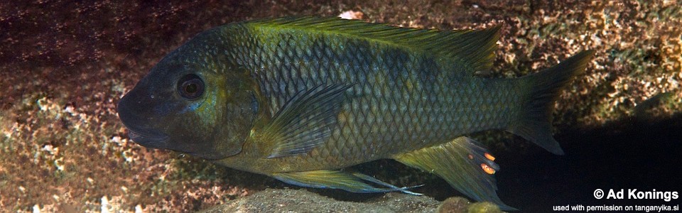
<svg viewBox="0 0 682 213"><path fill-rule="evenodd" d="M396 155L396 160L414 168L435 173L456 190L477 201L497 204L500 209L514 210L497 197L493 174L499 166L479 143L467 137L448 143Z"/></svg>

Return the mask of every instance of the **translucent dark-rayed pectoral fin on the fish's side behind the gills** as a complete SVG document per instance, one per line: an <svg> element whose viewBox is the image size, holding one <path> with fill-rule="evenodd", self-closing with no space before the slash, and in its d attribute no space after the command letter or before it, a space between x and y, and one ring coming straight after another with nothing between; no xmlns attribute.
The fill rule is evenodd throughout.
<svg viewBox="0 0 682 213"><path fill-rule="evenodd" d="M323 143L337 124L347 84L318 85L294 95L266 126L276 145L268 158L305 153Z"/></svg>

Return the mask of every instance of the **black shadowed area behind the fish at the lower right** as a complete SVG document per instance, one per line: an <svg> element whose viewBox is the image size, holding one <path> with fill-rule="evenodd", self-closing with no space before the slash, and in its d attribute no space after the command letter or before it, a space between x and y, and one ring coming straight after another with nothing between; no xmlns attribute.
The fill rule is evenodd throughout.
<svg viewBox="0 0 682 213"><path fill-rule="evenodd" d="M659 121L614 121L556 137L565 155L504 153L497 175L508 204L528 212L553 205L678 205L681 200L597 200L596 189L682 191L682 115ZM509 161L507 161L509 160ZM512 193L507 193L512 192ZM521 195L515 192L521 192ZM516 195L514 195L516 194Z"/></svg>

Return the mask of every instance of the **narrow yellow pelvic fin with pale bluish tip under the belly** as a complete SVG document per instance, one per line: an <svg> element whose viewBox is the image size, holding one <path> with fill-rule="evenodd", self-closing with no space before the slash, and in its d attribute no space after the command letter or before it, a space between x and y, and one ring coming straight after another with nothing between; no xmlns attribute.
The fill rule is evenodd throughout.
<svg viewBox="0 0 682 213"><path fill-rule="evenodd" d="M292 185L302 187L330 188L346 190L348 192L373 193L373 192L405 192L411 195L421 195L408 191L413 187L396 187L381 180L360 173L346 173L339 170L313 170L298 173L275 173L273 178ZM387 188L374 187L367 184L371 182ZM419 187L419 186L415 186Z"/></svg>

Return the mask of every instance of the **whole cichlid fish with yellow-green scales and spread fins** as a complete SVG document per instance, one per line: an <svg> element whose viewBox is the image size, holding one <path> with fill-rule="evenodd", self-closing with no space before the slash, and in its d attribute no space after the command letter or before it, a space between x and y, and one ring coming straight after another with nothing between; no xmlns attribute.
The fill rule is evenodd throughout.
<svg viewBox="0 0 682 213"><path fill-rule="evenodd" d="M398 28L338 18L231 23L166 55L118 104L130 138L305 187L406 193L341 170L391 158L502 209L494 157L462 135L504 129L562 154L558 92L584 51L517 79L485 78L499 27Z"/></svg>

